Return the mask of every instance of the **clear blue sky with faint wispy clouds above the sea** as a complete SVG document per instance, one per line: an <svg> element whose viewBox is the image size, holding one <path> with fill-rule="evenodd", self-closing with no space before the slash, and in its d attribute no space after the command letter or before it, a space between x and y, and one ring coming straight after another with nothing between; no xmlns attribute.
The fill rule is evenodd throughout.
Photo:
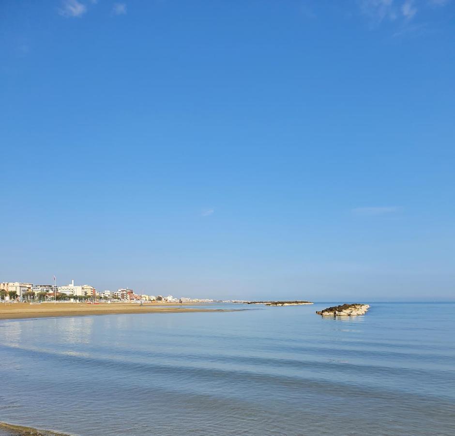
<svg viewBox="0 0 455 436"><path fill-rule="evenodd" d="M0 2L0 281L455 300L455 1Z"/></svg>

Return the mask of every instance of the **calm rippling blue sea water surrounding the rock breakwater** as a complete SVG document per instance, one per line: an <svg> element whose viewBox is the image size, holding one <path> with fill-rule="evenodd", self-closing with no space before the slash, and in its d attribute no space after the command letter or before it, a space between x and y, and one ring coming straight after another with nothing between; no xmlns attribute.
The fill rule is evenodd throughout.
<svg viewBox="0 0 455 436"><path fill-rule="evenodd" d="M315 314L328 305L0 321L0 420L75 435L454 435L455 304Z"/></svg>

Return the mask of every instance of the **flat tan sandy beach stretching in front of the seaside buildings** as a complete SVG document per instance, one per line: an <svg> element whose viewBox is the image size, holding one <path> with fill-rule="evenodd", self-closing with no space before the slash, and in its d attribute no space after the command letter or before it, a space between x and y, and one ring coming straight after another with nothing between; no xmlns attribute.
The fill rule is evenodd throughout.
<svg viewBox="0 0 455 436"><path fill-rule="evenodd" d="M186 306L194 304L186 304ZM49 318L60 316L110 315L120 313L176 313L176 312L222 312L233 309L210 309L185 307L179 303L154 303L140 306L136 303L1 303L0 319Z"/></svg>

